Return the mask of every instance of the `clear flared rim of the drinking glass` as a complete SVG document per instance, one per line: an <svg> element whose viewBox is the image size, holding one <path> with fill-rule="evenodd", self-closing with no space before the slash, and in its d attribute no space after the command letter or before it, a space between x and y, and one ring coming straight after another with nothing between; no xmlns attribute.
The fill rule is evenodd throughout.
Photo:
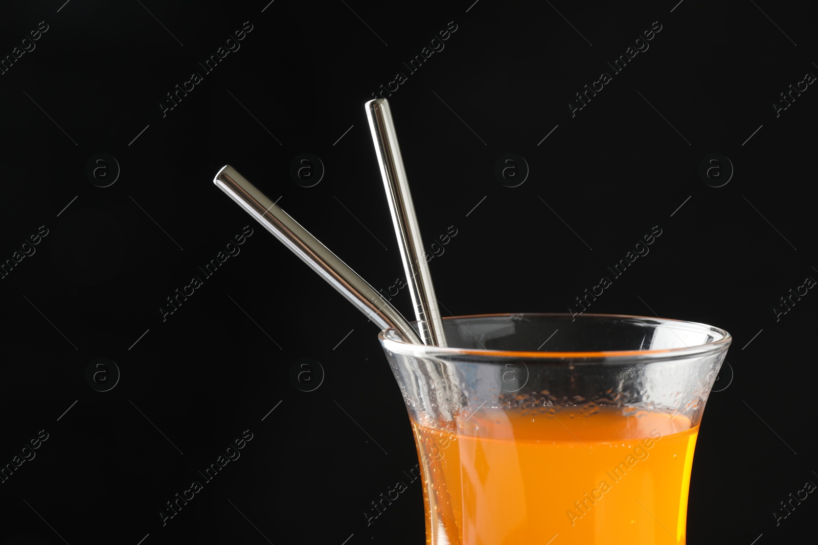
<svg viewBox="0 0 818 545"><path fill-rule="evenodd" d="M386 333L393 332L395 337L402 337L401 333L395 328L384 329L378 333L378 339L381 344L389 351L418 358L435 358L438 356L470 356L479 360L541 360L543 363L565 362L569 361L574 364L582 364L582 360L593 360L587 363L645 363L651 361L664 361L682 359L694 355L713 355L717 352L726 351L733 341L733 337L726 330L717 328L709 324L701 322L691 322L684 319L672 318L658 318L655 316L636 316L636 315L618 315L618 314L592 314L582 313L582 315L573 315L571 313L548 313L548 312L514 312L514 313L497 313L497 314L476 314L476 315L462 315L462 316L446 316L444 320L470 319L470 318L488 318L492 316L505 316L508 318L514 316L526 317L554 317L565 318L572 316L574 319L587 318L603 318L603 319L642 319L651 320L663 324L679 323L703 328L702 333L711 332L721 335L721 338L713 342L694 346L680 346L678 348L666 348L662 350L627 350L627 351L572 351L572 352L546 352L546 351L499 351L479 348L452 348L442 346L426 346L419 345L412 342L398 340L396 338L386 337ZM411 322L416 324L417 320Z"/></svg>

